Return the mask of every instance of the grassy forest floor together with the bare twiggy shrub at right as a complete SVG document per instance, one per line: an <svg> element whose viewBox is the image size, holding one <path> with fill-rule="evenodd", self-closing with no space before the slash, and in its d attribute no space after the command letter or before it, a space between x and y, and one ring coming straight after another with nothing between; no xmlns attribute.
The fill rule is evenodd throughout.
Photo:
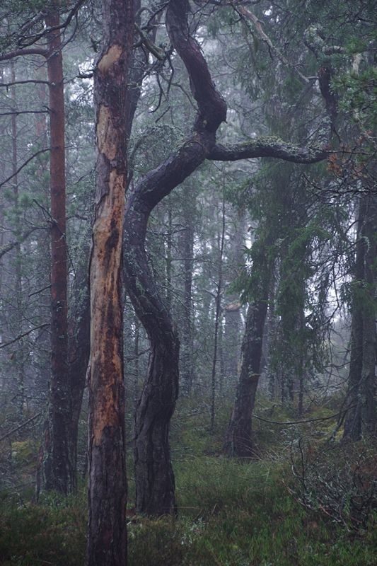
<svg viewBox="0 0 377 566"><path fill-rule="evenodd" d="M228 406L209 432L203 400L180 403L171 439L178 519L133 514L129 456L129 566L377 565L373 446L344 446L339 433L329 442L331 418L286 426L275 422L295 420L293 410L260 403L255 412L274 422L255 423L259 458L240 462L221 456ZM49 493L33 504L35 443L11 451L13 481L0 478L0 564L83 566L84 481L75 497Z"/></svg>

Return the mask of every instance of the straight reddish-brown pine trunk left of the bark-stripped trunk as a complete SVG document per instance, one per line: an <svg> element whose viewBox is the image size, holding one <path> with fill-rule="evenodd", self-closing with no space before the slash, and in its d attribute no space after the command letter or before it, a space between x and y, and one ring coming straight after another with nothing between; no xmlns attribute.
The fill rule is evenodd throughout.
<svg viewBox="0 0 377 566"><path fill-rule="evenodd" d="M45 18L59 26L59 11ZM51 210L51 381L45 427L43 469L46 489L74 490L75 473L70 452L71 402L68 367L68 307L66 250L66 189L64 144L64 77L60 30L47 36L47 74L50 107L50 210Z"/></svg>

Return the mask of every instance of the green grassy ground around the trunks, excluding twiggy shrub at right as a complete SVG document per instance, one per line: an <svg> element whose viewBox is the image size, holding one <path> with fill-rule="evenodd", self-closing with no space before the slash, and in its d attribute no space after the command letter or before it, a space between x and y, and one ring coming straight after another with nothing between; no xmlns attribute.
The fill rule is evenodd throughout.
<svg viewBox="0 0 377 566"><path fill-rule="evenodd" d="M293 415L268 405L258 412L277 421ZM227 419L224 410L209 434L205 410L192 402L178 408L172 448L179 517L132 517L129 566L376 566L373 518L370 529L352 533L302 507L287 489L294 487L288 446L297 431L260 422L260 460L232 461L221 456ZM316 425L316 442L329 428L328 421ZM131 480L130 504L132 491ZM38 505L19 492L2 493L1 565L82 566L85 533L85 485L76 497L49 494Z"/></svg>

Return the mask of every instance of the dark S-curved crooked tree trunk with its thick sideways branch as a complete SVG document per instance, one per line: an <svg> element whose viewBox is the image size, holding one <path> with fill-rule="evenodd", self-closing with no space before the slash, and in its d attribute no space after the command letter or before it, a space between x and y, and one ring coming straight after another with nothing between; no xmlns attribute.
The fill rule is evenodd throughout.
<svg viewBox="0 0 377 566"><path fill-rule="evenodd" d="M314 163L327 156L326 150L297 148L279 139L253 140L250 144L233 146L216 144L216 131L221 122L226 120L226 103L216 91L198 42L190 36L187 23L189 11L190 4L187 0L170 0L166 27L170 41L188 71L192 95L197 101L198 114L194 129L178 151L141 178L129 199L126 212L126 224L134 229L133 233L126 232L125 238L124 272L127 291L137 316L146 325L153 352L146 386L137 410L135 439L137 510L147 514L175 512L173 473L170 464L167 464L166 455L168 422L175 405L174 397L178 393L178 339L170 317L166 316L166 308L156 294L145 261L144 238L151 211L205 159L235 161L271 156L297 163ZM129 238L134 238L133 248ZM156 342L159 325L166 331L163 333L161 346ZM166 350L168 345L170 352ZM165 371L168 372L167 375L164 374ZM166 391L163 391L164 387ZM148 426L144 426L144 421ZM164 493L161 486L164 486ZM156 502L153 495L155 490L160 494L159 502Z"/></svg>

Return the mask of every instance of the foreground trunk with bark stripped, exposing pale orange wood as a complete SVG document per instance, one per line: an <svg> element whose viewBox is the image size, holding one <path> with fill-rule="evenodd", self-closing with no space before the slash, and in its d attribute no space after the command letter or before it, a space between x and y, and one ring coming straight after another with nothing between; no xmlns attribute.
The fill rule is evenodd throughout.
<svg viewBox="0 0 377 566"><path fill-rule="evenodd" d="M97 187L91 252L88 566L126 563L122 232L127 186L127 76L133 0L103 0L95 68Z"/></svg>

